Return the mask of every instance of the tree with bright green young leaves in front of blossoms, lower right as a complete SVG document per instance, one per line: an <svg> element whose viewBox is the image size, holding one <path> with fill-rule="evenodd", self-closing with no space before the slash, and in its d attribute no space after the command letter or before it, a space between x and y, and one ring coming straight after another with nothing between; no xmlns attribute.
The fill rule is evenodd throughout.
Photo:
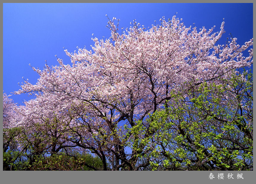
<svg viewBox="0 0 256 184"><path fill-rule="evenodd" d="M154 134L139 140L155 159L153 170L252 170L252 73L173 98L147 119ZM147 130L138 124L135 131Z"/></svg>

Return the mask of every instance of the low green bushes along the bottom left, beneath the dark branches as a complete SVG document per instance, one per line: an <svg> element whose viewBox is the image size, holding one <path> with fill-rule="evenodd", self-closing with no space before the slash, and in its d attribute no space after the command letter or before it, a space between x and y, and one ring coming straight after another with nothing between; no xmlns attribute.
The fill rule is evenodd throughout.
<svg viewBox="0 0 256 184"><path fill-rule="evenodd" d="M18 158L18 159L15 159ZM3 170L102 170L102 161L89 153L73 151L72 155L64 152L50 155L37 155L31 163L18 151L8 151L3 154ZM92 167L91 167L92 166Z"/></svg>

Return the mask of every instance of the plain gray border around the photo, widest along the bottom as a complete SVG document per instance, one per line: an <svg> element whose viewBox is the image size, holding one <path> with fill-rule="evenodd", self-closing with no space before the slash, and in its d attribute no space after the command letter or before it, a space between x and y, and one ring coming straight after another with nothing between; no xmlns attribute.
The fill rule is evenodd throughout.
<svg viewBox="0 0 256 184"><path fill-rule="evenodd" d="M15 0L16 1L16 0ZM15 3L15 1L11 1L12 3ZM100 3L102 0L93 1L93 0L87 0L86 2L90 3ZM122 0L125 2L124 0ZM228 2L234 3L234 1L225 0L225 3ZM35 1L28 1L27 3L32 3ZM42 1L40 1L42 2ZM46 3L51 3L49 1L45 1ZM56 2L56 0L54 1ZM57 2L62 2L57 0ZM77 1L79 2L79 1ZM80 1L84 3L84 1ZM104 1L103 1L104 2ZM120 1L117 0L109 0L110 3L119 3ZM159 1L158 1L159 2ZM161 3L171 3L170 1L161 1ZM185 0L181 1L179 3L191 3L191 1ZM205 1L202 0L196 0L196 2L199 3L205 3ZM208 1L209 2L209 1ZM7 3L7 0L5 2ZM10 1L8 1L10 3ZM130 0L129 3L138 3L138 1ZM154 1L145 1L140 0L140 3L154 3ZM193 1L194 3L194 1ZM212 3L212 2L211 2ZM223 1L217 1L215 3L223 3ZM243 2L244 3L244 2ZM248 1L246 3L253 3L253 1ZM1 4L3 9L3 4ZM253 4L253 9L255 9L255 3ZM255 13L253 13L253 18L255 20ZM2 21L3 19L1 19ZM3 24L1 24L3 25ZM254 32L255 33L255 21L254 21ZM3 30L2 30L3 31ZM255 34L254 34L255 35ZM1 47L3 45L1 44ZM254 47L255 49L255 47ZM0 49L0 54L3 54L3 49ZM254 69L255 67L253 67ZM3 65L1 64L1 73L3 73ZM253 74L255 77L255 74ZM3 76L1 75L1 85L0 89L3 91ZM255 88L255 87L253 87ZM254 105L255 107L255 105ZM0 105L0 111L2 111L2 101ZM254 112L255 116L255 112ZM2 119L0 131L2 131ZM255 124L255 123L254 123ZM2 147L2 135L1 135L1 141L0 145ZM254 148L255 152L255 148ZM1 155L2 155L2 149L1 149ZM3 160L0 159L0 165L2 165ZM214 177L213 180L209 179L210 173L213 173ZM218 174L223 173L224 174L224 180L218 179ZM227 179L228 173L233 174L234 179ZM237 174L243 174L244 179L237 179ZM44 171L44 172L37 172L37 171L2 171L0 170L0 181L1 183L225 183L225 184L236 184L236 183L254 183L253 180L256 179L254 171Z"/></svg>

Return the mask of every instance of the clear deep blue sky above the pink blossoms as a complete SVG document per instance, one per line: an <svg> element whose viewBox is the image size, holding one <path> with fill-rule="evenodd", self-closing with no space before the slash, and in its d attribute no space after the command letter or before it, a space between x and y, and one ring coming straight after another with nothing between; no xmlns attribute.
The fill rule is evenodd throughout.
<svg viewBox="0 0 256 184"><path fill-rule="evenodd" d="M29 79L35 84L38 74L29 66L43 69L58 65L56 57L71 63L63 47L69 52L84 46L90 50L92 33L101 39L108 38L107 17L121 19L120 27L127 28L136 19L145 27L159 23L175 12L186 27L193 25L207 29L216 25L219 31L225 21L224 43L232 33L242 45L253 37L253 5L251 4L3 4L3 89L11 92L20 89L18 82ZM16 103L29 100L27 95L12 95Z"/></svg>

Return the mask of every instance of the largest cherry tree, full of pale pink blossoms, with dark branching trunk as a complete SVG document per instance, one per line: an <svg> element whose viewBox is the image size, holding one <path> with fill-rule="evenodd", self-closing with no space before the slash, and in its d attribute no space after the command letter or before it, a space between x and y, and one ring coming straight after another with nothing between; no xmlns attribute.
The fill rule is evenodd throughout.
<svg viewBox="0 0 256 184"><path fill-rule="evenodd" d="M163 17L160 25L146 30L134 20L120 30L114 17L107 26L111 37L93 38L93 50L65 50L72 65L57 58L58 66L46 64L42 71L32 67L40 75L38 82L24 80L15 93L35 99L16 108L20 117L13 126L38 127L53 140L48 142L51 153L69 146L94 153L103 170L149 166L153 150L139 140L157 131L146 121L150 114L171 107L174 95L187 97L200 84L220 84L253 62L252 39L242 46L236 38L218 44L224 22L213 33L215 26L198 31L181 21ZM134 131L141 125L143 134Z"/></svg>

